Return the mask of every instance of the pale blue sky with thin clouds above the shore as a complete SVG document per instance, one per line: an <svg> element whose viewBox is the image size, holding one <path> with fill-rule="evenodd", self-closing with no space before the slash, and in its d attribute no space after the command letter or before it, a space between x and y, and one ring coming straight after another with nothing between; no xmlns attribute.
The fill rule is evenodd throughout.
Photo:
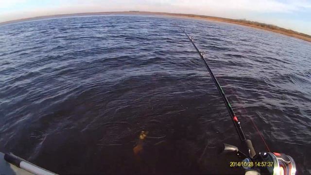
<svg viewBox="0 0 311 175"><path fill-rule="evenodd" d="M311 35L311 0L0 0L0 22L129 10L247 19Z"/></svg>

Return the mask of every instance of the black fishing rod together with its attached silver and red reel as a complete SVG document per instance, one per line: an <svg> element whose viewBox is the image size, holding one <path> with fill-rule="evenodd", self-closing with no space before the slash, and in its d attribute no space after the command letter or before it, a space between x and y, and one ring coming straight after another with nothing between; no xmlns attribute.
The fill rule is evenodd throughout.
<svg viewBox="0 0 311 175"><path fill-rule="evenodd" d="M179 27L180 28L180 27ZM181 29L181 28L180 28ZM205 52L200 52L196 47L193 36L189 36L185 30L181 29L184 34L189 38L193 47L199 53L200 58L203 60L210 76L212 77L222 99L224 100L225 106L229 112L229 115L234 123L234 126L237 130L239 138L244 146L247 148L248 156L242 153L238 147L224 144L223 152L232 152L235 153L238 157L240 157L242 162L233 162L234 167L242 167L245 170L245 175L260 175L260 173L267 173L270 175L295 175L296 173L296 165L294 159L283 153L270 153L270 152L259 152L256 154L255 149L252 145L252 141L245 138L244 132L241 127L241 123L239 122L237 116L235 115L227 97L225 96L225 92L223 88L220 86L217 78L215 77L212 70L209 68L204 54ZM263 140L264 141L264 140ZM270 150L269 150L270 151ZM230 165L231 166L231 165Z"/></svg>

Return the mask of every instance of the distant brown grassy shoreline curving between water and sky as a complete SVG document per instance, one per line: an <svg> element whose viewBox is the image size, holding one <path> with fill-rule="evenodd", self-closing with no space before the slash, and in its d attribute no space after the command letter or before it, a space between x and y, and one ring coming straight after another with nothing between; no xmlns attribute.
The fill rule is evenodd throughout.
<svg viewBox="0 0 311 175"><path fill-rule="evenodd" d="M192 15L192 14L175 14L175 13L164 13L164 12L143 12L143 11L126 11L126 12L94 12L94 13L75 13L75 14L61 14L61 15L50 15L50 16L41 16L34 18L23 18L17 20L10 20L5 22L0 22L0 25L22 22L27 20L37 20L37 19L45 19L45 18L57 18L57 17L70 17L70 16L81 16L81 15L113 15L113 14L127 14L127 15L161 15L161 16L173 16L173 17L185 17L185 18L197 18L197 19L207 19L213 21L227 22L233 24L239 24L243 26L254 27L258 29L263 29L266 31L275 32L282 35L292 36L298 39L302 39L305 41L311 42L311 35L295 32L293 30L284 29L281 27L277 27L275 25L264 24L249 20L242 19L229 19L229 18L219 18L219 17L210 17L204 15Z"/></svg>

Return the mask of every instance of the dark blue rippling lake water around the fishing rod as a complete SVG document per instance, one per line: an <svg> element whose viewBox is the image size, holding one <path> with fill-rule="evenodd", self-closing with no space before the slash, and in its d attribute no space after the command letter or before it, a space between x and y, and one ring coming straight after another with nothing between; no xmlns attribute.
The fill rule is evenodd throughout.
<svg viewBox="0 0 311 175"><path fill-rule="evenodd" d="M311 173L311 44L239 25L87 16L0 26L0 151L59 174L241 173L239 138L202 60L255 149ZM252 123L256 123L259 132ZM149 131L134 156L140 131Z"/></svg>

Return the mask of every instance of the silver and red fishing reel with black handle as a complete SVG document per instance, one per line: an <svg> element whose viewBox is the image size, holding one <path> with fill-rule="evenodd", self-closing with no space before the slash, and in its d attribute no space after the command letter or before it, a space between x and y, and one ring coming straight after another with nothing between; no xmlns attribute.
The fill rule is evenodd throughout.
<svg viewBox="0 0 311 175"><path fill-rule="evenodd" d="M250 154L250 150L249 155ZM295 175L296 165L293 157L283 153L259 152L254 157L246 156L238 147L224 144L222 152L234 153L242 159L235 162L236 167L245 170L245 175Z"/></svg>

